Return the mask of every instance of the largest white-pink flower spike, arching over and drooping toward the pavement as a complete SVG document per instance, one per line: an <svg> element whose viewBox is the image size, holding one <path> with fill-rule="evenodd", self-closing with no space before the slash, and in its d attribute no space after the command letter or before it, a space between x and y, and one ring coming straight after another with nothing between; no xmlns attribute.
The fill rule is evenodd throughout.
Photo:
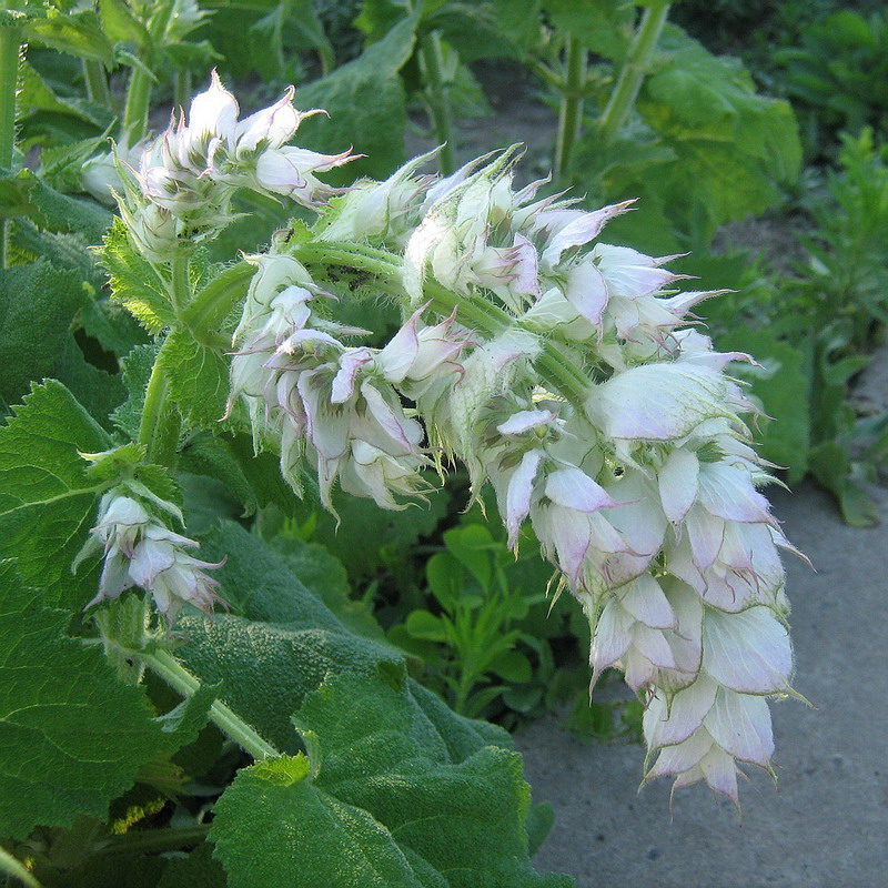
<svg viewBox="0 0 888 888"><path fill-rule="evenodd" d="M493 484L509 545L529 519L588 615L594 678L616 666L644 695L648 778L736 800L737 763L769 768L766 698L791 693L793 669L791 546L757 490L754 407L724 374L748 359L687 326L715 293L668 289L672 256L596 242L629 204L535 200L511 162L364 183L320 238L403 249L408 302L445 291L480 319L462 372L414 398L431 438ZM362 236L373 205L387 221Z"/></svg>

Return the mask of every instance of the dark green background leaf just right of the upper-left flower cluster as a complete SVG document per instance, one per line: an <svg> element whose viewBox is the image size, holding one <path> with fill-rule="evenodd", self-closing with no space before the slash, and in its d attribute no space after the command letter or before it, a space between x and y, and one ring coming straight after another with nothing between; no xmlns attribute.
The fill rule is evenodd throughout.
<svg viewBox="0 0 888 888"><path fill-rule="evenodd" d="M413 52L415 16L398 22L383 40L354 61L337 68L296 93L300 108L324 108L330 119L312 118L300 127L300 144L324 152L366 154L350 163L342 181L357 175L383 179L404 162L406 109L398 70ZM324 181L335 181L326 174Z"/></svg>

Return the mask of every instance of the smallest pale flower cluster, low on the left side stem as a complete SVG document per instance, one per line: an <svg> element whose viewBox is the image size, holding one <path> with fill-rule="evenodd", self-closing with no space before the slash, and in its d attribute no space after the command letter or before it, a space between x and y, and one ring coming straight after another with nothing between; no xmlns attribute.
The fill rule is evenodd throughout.
<svg viewBox="0 0 888 888"><path fill-rule="evenodd" d="M153 502L181 517L172 503L157 497ZM99 594L88 607L119 598L132 586L141 586L151 593L158 610L172 625L185 602L205 614L212 613L218 602L224 604L216 592L219 582L204 573L221 567L221 563L203 562L188 554L188 549L199 547L199 543L159 521L131 492L115 488L102 497L99 521L73 569L84 558L101 552L104 561Z"/></svg>

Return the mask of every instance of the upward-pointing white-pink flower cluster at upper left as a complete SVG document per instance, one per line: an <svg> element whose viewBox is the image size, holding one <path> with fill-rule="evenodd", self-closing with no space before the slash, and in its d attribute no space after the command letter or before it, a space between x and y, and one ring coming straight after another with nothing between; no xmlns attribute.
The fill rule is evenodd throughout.
<svg viewBox="0 0 888 888"><path fill-rule="evenodd" d="M188 122L184 112L179 120L173 115L142 150L134 181L123 178L121 215L143 255L162 263L176 239L218 233L233 218L230 202L239 188L309 208L337 193L315 174L347 163L347 151L320 154L286 144L316 113L297 111L290 87L273 105L239 120L238 101L214 71L210 89L191 102Z"/></svg>

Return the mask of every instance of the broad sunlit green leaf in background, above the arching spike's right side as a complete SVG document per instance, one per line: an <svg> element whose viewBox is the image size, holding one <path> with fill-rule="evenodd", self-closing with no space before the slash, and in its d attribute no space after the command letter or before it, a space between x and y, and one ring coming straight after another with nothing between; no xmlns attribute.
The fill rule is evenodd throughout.
<svg viewBox="0 0 888 888"><path fill-rule="evenodd" d="M675 229L685 245L688 235L705 245L718 225L764 211L798 176L789 104L758 94L739 61L710 54L680 28L666 26L636 110L632 140L602 145L591 128L574 157L574 176L584 185L592 178L598 200L640 198L640 212L608 226L609 238L672 252ZM643 213L652 213L650 224ZM639 225L650 228L640 244Z"/></svg>

